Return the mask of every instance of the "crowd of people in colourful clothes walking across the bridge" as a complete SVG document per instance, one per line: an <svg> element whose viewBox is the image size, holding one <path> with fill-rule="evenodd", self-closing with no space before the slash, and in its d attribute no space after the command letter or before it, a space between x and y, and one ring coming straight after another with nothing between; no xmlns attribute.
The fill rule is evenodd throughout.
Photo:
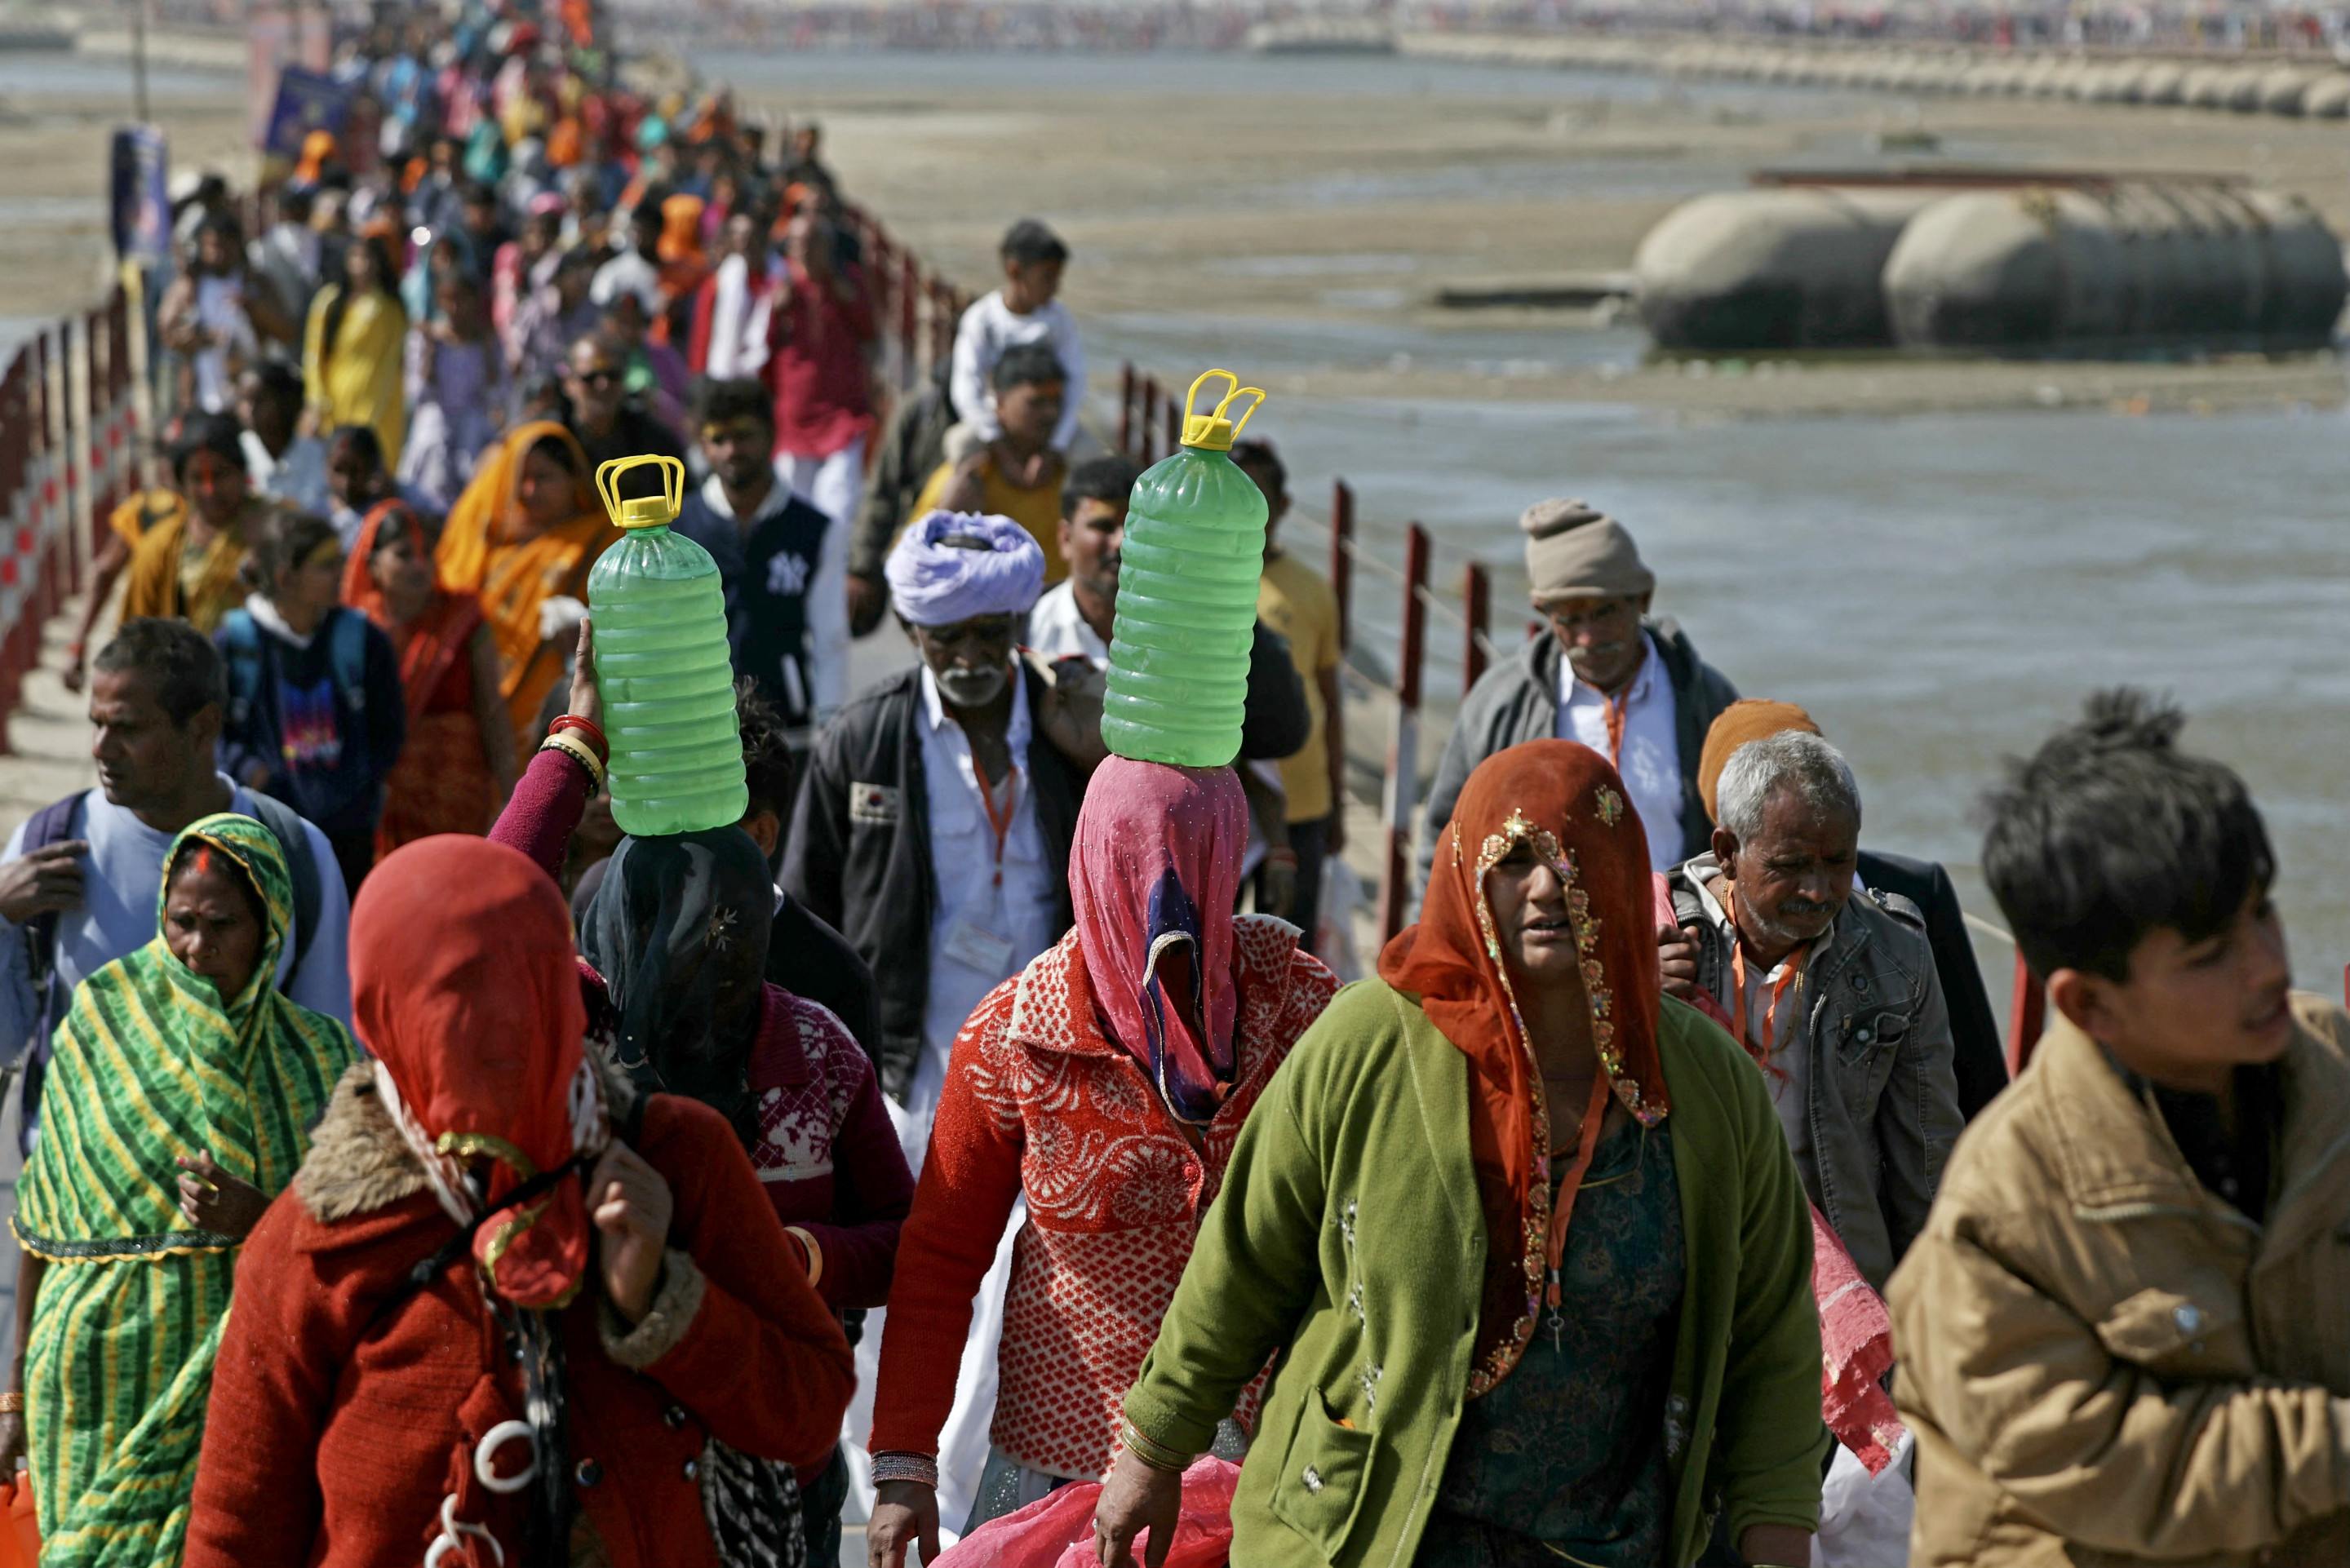
<svg viewBox="0 0 2350 1568"><path fill-rule="evenodd" d="M1269 442L1238 755L1104 745L1140 470L1048 226L888 397L815 127L623 87L578 5L336 73L261 235L181 214L172 480L66 672L99 780L0 853L42 1561L832 1563L862 1519L872 1568L1041 1566L1079 1495L1104 1568L2350 1552L2350 1020L2178 712L2101 693L1988 802L2052 1018L2009 1084L1943 867L1864 849L1624 522L1537 501L1544 625L1356 976ZM696 473L747 802L658 837L583 602L637 454Z"/></svg>

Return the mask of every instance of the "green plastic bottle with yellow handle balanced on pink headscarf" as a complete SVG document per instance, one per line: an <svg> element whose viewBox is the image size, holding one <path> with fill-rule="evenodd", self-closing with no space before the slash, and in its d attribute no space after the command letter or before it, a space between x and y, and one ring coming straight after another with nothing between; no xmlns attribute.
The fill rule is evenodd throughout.
<svg viewBox="0 0 2350 1568"><path fill-rule="evenodd" d="M1224 400L1191 414L1198 388L1217 376ZM1234 421L1241 397L1255 402ZM1119 757L1220 769L1241 755L1264 491L1229 454L1260 407L1262 388L1224 369L1203 374L1184 397L1182 447L1135 480L1102 703L1102 741Z"/></svg>

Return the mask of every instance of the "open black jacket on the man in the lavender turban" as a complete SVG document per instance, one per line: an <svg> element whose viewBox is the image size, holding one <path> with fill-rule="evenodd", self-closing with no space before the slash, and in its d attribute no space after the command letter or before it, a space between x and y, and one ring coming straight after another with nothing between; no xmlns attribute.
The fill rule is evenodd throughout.
<svg viewBox="0 0 2350 1568"><path fill-rule="evenodd" d="M1043 677L1025 661L1029 712ZM1029 729L1029 788L1055 896L1055 938L1069 929L1069 842L1086 780ZM905 1098L921 1060L921 1011L931 999L931 806L921 766L921 665L870 686L841 708L808 757L792 809L783 891L839 929L872 971L881 999L881 1091ZM968 867L961 867L968 872Z"/></svg>

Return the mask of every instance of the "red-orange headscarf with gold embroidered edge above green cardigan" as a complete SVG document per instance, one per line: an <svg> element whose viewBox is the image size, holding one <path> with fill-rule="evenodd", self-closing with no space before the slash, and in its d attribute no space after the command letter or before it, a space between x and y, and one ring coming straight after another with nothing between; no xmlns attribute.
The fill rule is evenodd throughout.
<svg viewBox="0 0 2350 1568"><path fill-rule="evenodd" d="M1379 954L1379 978L1417 994L1429 1023L1469 1058L1469 1152L1490 1237L1471 1394L1525 1354L1549 1267L1551 1117L1485 898L1485 875L1518 844L1567 886L1591 1041L1617 1100L1643 1126L1671 1105L1657 1063L1664 1001L1647 830L1624 780L1574 741L1528 741L1488 757L1436 842L1419 924Z"/></svg>

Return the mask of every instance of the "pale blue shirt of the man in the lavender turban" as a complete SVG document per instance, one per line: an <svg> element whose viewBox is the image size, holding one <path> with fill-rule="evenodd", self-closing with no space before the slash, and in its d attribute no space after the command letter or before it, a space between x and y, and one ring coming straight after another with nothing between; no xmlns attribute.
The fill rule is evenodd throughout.
<svg viewBox="0 0 2350 1568"><path fill-rule="evenodd" d="M931 670L921 672L921 773L931 809L931 997L921 1013L921 1060L907 1086L907 1110L928 1112L947 1081L947 1051L971 1011L1027 961L1050 947L1055 919L1053 860L1036 823L1027 776L1027 682L1013 672L1013 715L1003 733L1013 755L1015 797L1003 830L1003 877L996 879L996 832L980 804L971 738L947 715ZM1001 780L999 780L1001 790ZM1001 802L1001 792L996 795Z"/></svg>

